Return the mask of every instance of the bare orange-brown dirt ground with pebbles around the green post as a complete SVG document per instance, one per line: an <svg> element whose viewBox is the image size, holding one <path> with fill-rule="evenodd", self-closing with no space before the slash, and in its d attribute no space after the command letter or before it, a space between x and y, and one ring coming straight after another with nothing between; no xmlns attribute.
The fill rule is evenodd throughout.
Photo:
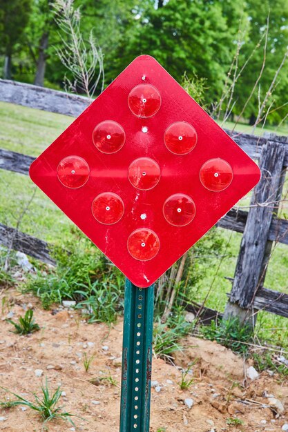
<svg viewBox="0 0 288 432"><path fill-rule="evenodd" d="M44 311L35 297L13 290L1 293L0 301L3 298L0 386L32 400L30 392L39 394L39 387L47 377L51 389L61 384L64 392L61 404L66 411L79 416L74 419L75 429L68 422L57 421L48 424L48 431L117 432L122 322L113 328L86 324L75 311ZM15 320L27 307L34 309L41 331L28 337L10 333L12 326L6 317L14 313ZM152 380L157 383L153 383L151 391L151 432L288 430L284 426L288 424L284 411L288 410L287 382L269 372L261 373L253 381L245 378L243 360L216 343L189 337L185 344L185 351L177 353L176 366L153 358ZM84 353L88 357L95 355L88 373L84 371ZM196 359L191 375L193 384L181 391L180 366L186 367ZM99 380L103 377L104 380ZM113 377L116 383L111 384L105 377ZM96 385L89 382L92 378ZM0 389L0 400L7 398L8 394ZM191 409L184 404L187 398L193 400ZM269 400L274 406L268 407ZM234 424L229 424L231 419ZM235 424L239 422L235 419L243 424ZM41 430L41 420L34 411L23 406L0 409L0 431Z"/></svg>

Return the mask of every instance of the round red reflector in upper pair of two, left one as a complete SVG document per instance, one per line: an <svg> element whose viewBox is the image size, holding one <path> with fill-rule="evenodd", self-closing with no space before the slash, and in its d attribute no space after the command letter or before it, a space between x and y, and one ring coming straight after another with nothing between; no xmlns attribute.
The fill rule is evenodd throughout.
<svg viewBox="0 0 288 432"><path fill-rule="evenodd" d="M97 149L110 155L124 146L125 132L119 123L113 120L102 121L93 130L93 143Z"/></svg>

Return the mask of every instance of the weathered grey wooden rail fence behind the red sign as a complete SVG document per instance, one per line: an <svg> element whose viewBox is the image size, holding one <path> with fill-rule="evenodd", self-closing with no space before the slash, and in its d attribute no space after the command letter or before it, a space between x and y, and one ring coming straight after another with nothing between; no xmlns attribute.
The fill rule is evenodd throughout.
<svg viewBox="0 0 288 432"><path fill-rule="evenodd" d="M71 116L79 115L90 103L85 97L1 79L0 100ZM246 320L259 309L288 317L288 295L263 286L273 242L288 244L288 221L277 217L288 166L288 137L256 137L229 130L227 133L250 157L259 161L262 178L253 191L249 212L232 209L218 222L222 228L243 234L224 317L238 315ZM0 168L4 170L28 175L33 160L0 148ZM46 242L3 224L0 224L0 244L55 264ZM189 308L199 311L197 305ZM211 309L204 310L207 320L218 314Z"/></svg>

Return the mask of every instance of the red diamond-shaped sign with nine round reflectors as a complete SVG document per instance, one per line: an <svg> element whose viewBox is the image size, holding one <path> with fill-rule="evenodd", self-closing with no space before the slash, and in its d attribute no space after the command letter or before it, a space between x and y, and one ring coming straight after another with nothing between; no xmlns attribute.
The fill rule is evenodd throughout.
<svg viewBox="0 0 288 432"><path fill-rule="evenodd" d="M153 57L137 57L30 167L136 286L147 287L260 179Z"/></svg>

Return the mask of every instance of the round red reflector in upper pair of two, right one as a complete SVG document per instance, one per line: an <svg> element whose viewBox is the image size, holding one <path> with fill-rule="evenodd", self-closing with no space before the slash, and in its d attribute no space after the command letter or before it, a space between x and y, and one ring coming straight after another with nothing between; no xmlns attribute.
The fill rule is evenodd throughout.
<svg viewBox="0 0 288 432"><path fill-rule="evenodd" d="M175 155L186 155L197 144L197 132L186 121L177 121L166 129L164 143Z"/></svg>

